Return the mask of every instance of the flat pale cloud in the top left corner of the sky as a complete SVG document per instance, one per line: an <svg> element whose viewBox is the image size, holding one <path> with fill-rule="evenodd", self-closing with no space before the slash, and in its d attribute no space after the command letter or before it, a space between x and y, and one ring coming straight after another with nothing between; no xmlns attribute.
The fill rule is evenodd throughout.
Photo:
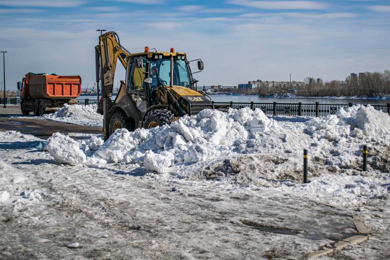
<svg viewBox="0 0 390 260"><path fill-rule="evenodd" d="M84 3L84 0L0 0L0 5L5 6L75 7Z"/></svg>

